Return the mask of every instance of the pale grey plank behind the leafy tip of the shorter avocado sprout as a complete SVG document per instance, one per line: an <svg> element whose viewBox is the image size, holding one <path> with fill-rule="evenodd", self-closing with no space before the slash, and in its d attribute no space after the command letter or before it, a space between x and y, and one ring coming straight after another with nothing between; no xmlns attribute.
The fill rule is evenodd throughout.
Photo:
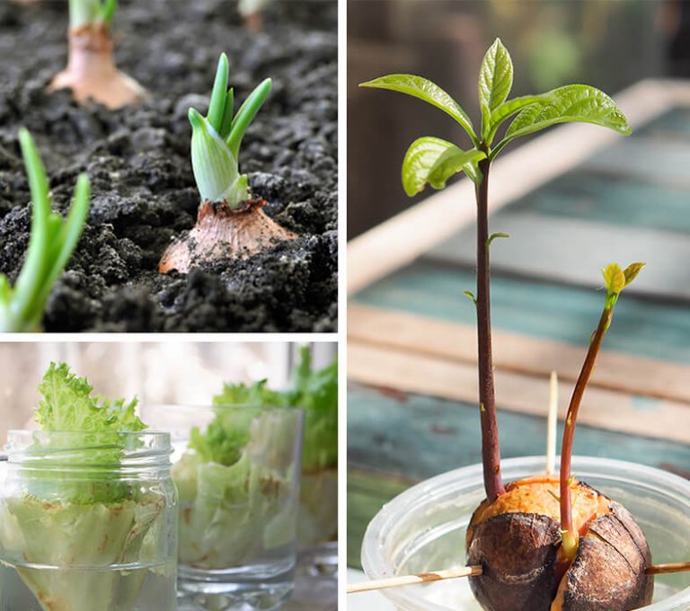
<svg viewBox="0 0 690 611"><path fill-rule="evenodd" d="M687 202L685 217L690 220L690 193ZM512 237L491 246L491 268L497 273L596 290L603 284L599 270L608 263L616 261L625 267L633 261L645 261L647 268L626 289L626 299L639 294L683 299L690 304L690 267L678 264L690 261L690 235L613 226L591 219L516 214L509 208L491 218L494 230ZM428 257L471 268L476 259L475 240L474 228L468 227L431 249Z"/></svg>

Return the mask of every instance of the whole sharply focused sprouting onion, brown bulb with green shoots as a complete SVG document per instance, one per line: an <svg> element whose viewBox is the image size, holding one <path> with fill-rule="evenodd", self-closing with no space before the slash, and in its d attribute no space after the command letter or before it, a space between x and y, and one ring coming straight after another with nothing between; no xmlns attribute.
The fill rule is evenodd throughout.
<svg viewBox="0 0 690 611"><path fill-rule="evenodd" d="M270 78L250 93L235 114L234 91L227 88L227 77L224 53L218 60L208 116L190 108L191 165L201 204L196 226L165 250L158 265L162 273L186 273L199 263L248 257L296 238L263 212L267 202L252 197L237 161L244 133L269 96Z"/></svg>

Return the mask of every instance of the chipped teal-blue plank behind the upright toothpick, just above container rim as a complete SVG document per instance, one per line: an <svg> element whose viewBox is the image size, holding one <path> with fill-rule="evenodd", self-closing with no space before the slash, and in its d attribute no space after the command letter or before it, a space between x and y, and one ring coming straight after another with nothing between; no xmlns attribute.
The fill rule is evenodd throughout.
<svg viewBox="0 0 690 611"><path fill-rule="evenodd" d="M582 409L587 409L586 403ZM499 429L503 457L545 454L545 418L499 411ZM662 439L579 425L574 451L580 456L632 460L690 477L690 447ZM481 458L479 413L475 405L349 385L350 468L422 480L474 465Z"/></svg>

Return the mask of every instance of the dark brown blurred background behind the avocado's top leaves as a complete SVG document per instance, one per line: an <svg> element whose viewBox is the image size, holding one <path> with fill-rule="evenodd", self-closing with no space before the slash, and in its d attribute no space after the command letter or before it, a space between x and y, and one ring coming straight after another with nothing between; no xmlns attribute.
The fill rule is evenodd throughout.
<svg viewBox="0 0 690 611"><path fill-rule="evenodd" d="M579 82L615 94L646 77L690 75L685 0L349 0L349 239L413 203L400 165L415 138L467 144L437 109L358 83L426 76L476 122L479 66L496 36L516 66L511 97Z"/></svg>

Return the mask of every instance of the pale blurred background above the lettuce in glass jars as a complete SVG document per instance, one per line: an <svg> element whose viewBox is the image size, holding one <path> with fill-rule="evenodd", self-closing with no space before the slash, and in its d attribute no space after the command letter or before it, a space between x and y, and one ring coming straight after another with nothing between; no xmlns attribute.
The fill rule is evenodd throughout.
<svg viewBox="0 0 690 611"><path fill-rule="evenodd" d="M8 429L32 427L40 384L50 361L65 361L86 376L94 393L137 395L140 404L209 404L224 382L263 378L283 388L298 362L300 345L281 342L31 342L0 343L0 445ZM310 344L315 368L337 352L335 343Z"/></svg>

